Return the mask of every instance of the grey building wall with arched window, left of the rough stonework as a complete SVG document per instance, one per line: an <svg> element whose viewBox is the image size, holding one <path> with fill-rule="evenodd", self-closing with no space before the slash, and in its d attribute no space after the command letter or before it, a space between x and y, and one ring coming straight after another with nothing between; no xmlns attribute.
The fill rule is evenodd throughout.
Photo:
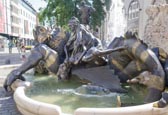
<svg viewBox="0 0 168 115"><path fill-rule="evenodd" d="M143 39L148 19L146 9L152 4L153 0L123 0L123 2L127 20L126 30L138 32L139 37Z"/></svg>

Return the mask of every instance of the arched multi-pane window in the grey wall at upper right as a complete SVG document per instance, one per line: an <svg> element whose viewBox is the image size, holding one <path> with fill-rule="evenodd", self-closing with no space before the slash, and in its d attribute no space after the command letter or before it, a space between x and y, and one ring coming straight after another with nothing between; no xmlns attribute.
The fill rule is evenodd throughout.
<svg viewBox="0 0 168 115"><path fill-rule="evenodd" d="M132 0L128 8L128 20L139 18L139 1Z"/></svg>

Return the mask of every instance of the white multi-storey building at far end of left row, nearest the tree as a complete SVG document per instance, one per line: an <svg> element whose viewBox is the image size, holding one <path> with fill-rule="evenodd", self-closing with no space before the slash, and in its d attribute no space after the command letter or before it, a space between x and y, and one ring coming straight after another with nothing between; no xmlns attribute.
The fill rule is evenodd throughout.
<svg viewBox="0 0 168 115"><path fill-rule="evenodd" d="M33 28L37 25L37 12L26 0L21 0L20 4L20 27L19 37L24 38L26 45L31 45L33 41Z"/></svg>

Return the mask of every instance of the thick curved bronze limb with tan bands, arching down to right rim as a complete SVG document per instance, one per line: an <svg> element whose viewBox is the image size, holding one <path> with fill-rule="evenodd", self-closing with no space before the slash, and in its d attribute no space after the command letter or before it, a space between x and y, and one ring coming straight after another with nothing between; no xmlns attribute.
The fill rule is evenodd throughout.
<svg viewBox="0 0 168 115"><path fill-rule="evenodd" d="M145 65L147 71L151 73L150 76L147 76L149 82L146 85L149 91L145 102L159 100L165 88L165 72L158 57L142 43L135 42L131 48L130 51L136 60Z"/></svg>

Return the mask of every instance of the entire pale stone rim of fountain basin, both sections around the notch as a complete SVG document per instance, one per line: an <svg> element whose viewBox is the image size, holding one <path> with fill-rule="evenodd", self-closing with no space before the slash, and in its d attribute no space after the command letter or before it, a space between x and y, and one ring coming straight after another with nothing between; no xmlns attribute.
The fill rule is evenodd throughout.
<svg viewBox="0 0 168 115"><path fill-rule="evenodd" d="M16 82L14 85L16 88L14 88L14 100L22 114L67 115L62 112L61 107L58 105L35 101L27 97L25 91L29 86L28 82ZM168 106L165 108L154 108L152 105L153 103L118 108L78 108L74 111L74 115L168 115Z"/></svg>

